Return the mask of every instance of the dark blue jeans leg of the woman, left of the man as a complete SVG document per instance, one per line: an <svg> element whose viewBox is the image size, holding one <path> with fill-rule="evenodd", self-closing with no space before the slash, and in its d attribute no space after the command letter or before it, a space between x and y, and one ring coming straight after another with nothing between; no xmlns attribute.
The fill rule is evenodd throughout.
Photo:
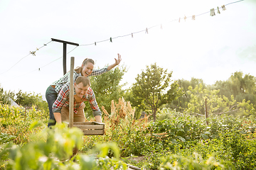
<svg viewBox="0 0 256 170"><path fill-rule="evenodd" d="M56 124L56 120L53 115L53 103L56 101L57 97L58 97L58 94L55 91L55 89L52 86L48 86L46 90L46 101L48 103L49 115L50 115L50 119L48 121L48 128Z"/></svg>

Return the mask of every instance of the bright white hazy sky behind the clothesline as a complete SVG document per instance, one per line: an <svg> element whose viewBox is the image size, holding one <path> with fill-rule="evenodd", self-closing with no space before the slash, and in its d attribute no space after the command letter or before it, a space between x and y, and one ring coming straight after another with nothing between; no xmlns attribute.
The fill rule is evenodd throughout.
<svg viewBox="0 0 256 170"><path fill-rule="evenodd" d="M44 95L63 76L63 43L51 38L79 44L67 45L67 71L70 57L75 67L92 58L97 69L119 53L124 88L155 62L172 80L256 77L256 1L237 1L0 0L0 87Z"/></svg>

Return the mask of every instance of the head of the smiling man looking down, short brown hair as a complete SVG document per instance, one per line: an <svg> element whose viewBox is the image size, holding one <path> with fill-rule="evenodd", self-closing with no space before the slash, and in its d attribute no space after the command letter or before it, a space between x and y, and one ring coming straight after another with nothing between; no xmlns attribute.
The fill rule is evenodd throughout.
<svg viewBox="0 0 256 170"><path fill-rule="evenodd" d="M78 79L75 80L75 94L82 98L87 93L87 90L90 86L90 80L87 77L78 77Z"/></svg>

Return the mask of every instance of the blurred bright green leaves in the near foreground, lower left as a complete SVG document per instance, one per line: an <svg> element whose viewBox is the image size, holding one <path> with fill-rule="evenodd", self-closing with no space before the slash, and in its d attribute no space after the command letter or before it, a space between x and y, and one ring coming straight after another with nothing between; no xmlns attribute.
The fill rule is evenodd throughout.
<svg viewBox="0 0 256 170"><path fill-rule="evenodd" d="M31 128L36 126L38 123L33 123ZM78 154L77 161L73 162L75 157L70 159L73 149L82 144L82 131L78 128L58 124L52 129L46 128L36 138L38 140L23 147L12 143L4 145L0 149L1 169L127 169L127 164L119 161L116 143L96 145L91 152L94 157ZM110 149L114 158L107 157Z"/></svg>

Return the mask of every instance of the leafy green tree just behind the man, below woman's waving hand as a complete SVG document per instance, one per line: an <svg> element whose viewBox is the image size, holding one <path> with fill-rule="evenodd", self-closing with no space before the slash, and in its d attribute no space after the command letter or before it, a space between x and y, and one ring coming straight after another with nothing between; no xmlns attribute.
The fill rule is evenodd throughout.
<svg viewBox="0 0 256 170"><path fill-rule="evenodd" d="M124 94L122 86L125 84L121 85L120 82L125 72L127 72L127 68L123 65L100 76L90 77L90 86L95 93L98 106L100 108L104 106L108 113L111 113L111 101L118 101ZM85 112L87 115L92 115L92 109L87 102L85 102Z"/></svg>

